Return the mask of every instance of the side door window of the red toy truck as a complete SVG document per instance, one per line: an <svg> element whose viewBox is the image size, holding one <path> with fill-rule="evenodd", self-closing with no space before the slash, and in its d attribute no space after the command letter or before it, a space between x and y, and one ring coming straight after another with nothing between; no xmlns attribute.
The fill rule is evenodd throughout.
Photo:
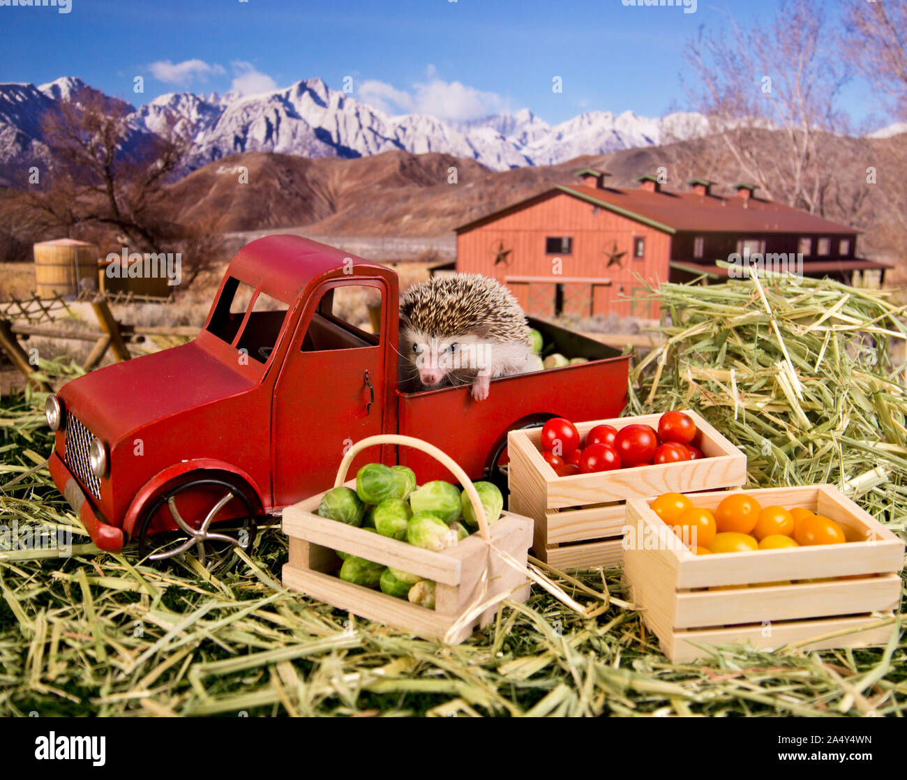
<svg viewBox="0 0 907 780"><path fill-rule="evenodd" d="M381 340L383 295L371 285L337 285L322 294L302 342L303 352L359 349Z"/></svg>

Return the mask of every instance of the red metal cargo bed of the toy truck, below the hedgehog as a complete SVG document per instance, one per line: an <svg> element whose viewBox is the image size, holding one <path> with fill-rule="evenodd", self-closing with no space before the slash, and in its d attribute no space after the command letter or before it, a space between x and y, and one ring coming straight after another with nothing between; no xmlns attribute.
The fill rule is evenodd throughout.
<svg viewBox="0 0 907 780"><path fill-rule="evenodd" d="M629 356L543 320L530 317L529 322L555 351L590 362L493 379L484 401L473 400L469 385L397 391L397 430L440 447L471 479L479 480L488 476L494 454L513 428L550 417L579 421L619 416L627 404ZM456 482L444 467L415 450L400 448L397 461L413 469L420 483Z"/></svg>

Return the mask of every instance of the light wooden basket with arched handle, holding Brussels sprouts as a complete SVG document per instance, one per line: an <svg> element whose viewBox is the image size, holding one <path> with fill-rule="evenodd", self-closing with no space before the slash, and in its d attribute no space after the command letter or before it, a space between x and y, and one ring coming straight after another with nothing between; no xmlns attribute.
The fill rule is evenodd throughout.
<svg viewBox="0 0 907 780"><path fill-rule="evenodd" d="M450 644L459 644L469 637L476 624L488 625L494 619L499 601L528 599L529 584L523 583L527 582L525 569L527 551L532 544L532 521L513 512L502 512L500 519L489 526L469 477L433 444L396 434L369 436L346 453L334 486L344 484L356 455L375 444L414 447L434 456L463 484L463 490L473 502L479 533L441 552L423 550L405 541L320 517L315 512L324 493L319 493L283 512L283 531L289 536L284 585L363 618ZM355 489L356 480L346 485ZM332 573L340 567L335 550L434 580L437 583L435 609L340 580Z"/></svg>

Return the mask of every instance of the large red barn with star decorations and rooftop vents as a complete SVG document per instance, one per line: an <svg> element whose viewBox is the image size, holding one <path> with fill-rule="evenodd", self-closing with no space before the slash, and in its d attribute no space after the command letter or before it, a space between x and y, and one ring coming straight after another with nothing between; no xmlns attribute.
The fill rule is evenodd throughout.
<svg viewBox="0 0 907 780"><path fill-rule="evenodd" d="M609 175L585 169L577 184L460 226L456 270L498 279L534 317L657 317L657 307L639 299L645 282L727 278L716 260L735 253L754 261L758 253L775 267L802 254L805 275L847 281L886 268L855 257L857 230L756 198L751 185L722 197L707 180L673 192L640 176L639 189L619 190L606 184Z"/></svg>

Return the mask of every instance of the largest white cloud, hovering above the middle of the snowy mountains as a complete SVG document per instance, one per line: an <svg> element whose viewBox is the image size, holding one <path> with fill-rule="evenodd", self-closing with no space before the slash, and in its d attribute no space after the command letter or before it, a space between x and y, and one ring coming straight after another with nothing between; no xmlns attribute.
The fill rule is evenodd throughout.
<svg viewBox="0 0 907 780"><path fill-rule="evenodd" d="M428 81L414 83L411 92L398 90L385 82L363 82L359 85L359 97L363 102L388 113L427 113L448 120L478 119L501 112L506 107L499 94L438 78L434 65L428 65L426 74Z"/></svg>

